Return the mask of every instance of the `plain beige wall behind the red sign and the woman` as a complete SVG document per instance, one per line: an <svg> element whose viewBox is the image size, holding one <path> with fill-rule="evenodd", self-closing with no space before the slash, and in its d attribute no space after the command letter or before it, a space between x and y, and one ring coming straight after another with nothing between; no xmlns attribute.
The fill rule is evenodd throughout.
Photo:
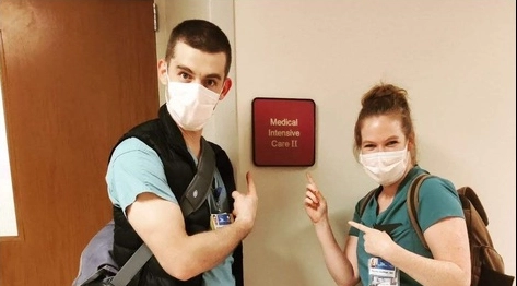
<svg viewBox="0 0 517 286"><path fill-rule="evenodd" d="M246 285L333 285L303 211L304 175L310 171L326 194L342 243L355 202L374 187L353 158L352 135L360 97L379 81L410 94L421 166L479 191L496 249L515 275L515 1L186 2L166 0L178 17L167 13L167 29L199 15L234 37L234 94L218 107L224 111L207 136L231 154L240 190L247 170L258 186ZM161 52L160 33L157 41ZM313 167L252 165L258 96L316 102Z"/></svg>

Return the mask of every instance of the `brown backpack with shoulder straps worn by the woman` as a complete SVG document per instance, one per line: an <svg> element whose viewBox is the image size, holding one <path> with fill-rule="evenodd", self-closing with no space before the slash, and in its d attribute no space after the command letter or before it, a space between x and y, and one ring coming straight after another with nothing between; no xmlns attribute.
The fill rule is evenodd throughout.
<svg viewBox="0 0 517 286"><path fill-rule="evenodd" d="M407 205L408 215L422 245L428 249L422 229L419 226L419 190L422 182L432 177L428 174L419 175L408 191ZM363 215L367 202L374 196L375 190L368 192L360 203L360 216ZM467 231L469 234L470 262L471 262L471 286L512 286L514 276L505 274L503 258L497 253L492 242L489 229L489 217L484 207L470 187L461 187L457 190L461 201Z"/></svg>

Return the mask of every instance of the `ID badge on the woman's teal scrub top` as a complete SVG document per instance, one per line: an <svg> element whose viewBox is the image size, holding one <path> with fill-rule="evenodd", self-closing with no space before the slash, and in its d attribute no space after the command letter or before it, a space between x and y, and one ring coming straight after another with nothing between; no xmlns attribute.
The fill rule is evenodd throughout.
<svg viewBox="0 0 517 286"><path fill-rule="evenodd" d="M399 286L399 270L381 258L368 260L368 286Z"/></svg>

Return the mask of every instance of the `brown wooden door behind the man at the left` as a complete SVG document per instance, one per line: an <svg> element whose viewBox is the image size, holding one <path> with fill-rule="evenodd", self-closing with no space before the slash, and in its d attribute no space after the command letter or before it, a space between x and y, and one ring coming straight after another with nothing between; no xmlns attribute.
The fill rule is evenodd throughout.
<svg viewBox="0 0 517 286"><path fill-rule="evenodd" d="M158 109L152 0L1 0L2 87L17 237L0 285L71 285L111 218L114 143Z"/></svg>

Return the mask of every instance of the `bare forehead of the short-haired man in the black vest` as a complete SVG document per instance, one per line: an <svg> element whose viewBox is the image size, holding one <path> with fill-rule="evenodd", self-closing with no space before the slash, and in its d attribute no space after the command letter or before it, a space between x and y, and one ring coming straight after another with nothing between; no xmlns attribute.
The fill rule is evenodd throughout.
<svg viewBox="0 0 517 286"><path fill-rule="evenodd" d="M221 79L224 79L225 64L226 55L224 52L204 52L183 41L176 43L174 57L171 59L171 69L188 68L198 76L219 74Z"/></svg>

